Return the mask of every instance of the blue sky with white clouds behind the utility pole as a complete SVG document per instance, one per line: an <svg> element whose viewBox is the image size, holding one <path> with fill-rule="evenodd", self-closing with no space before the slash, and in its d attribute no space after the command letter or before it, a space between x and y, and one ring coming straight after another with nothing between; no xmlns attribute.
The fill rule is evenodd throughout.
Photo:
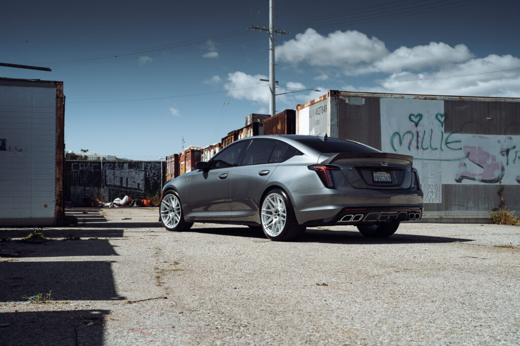
<svg viewBox="0 0 520 346"><path fill-rule="evenodd" d="M520 4L275 1L277 98L329 89L520 97ZM63 81L66 149L158 159L268 113L269 0L7 2L0 77Z"/></svg>

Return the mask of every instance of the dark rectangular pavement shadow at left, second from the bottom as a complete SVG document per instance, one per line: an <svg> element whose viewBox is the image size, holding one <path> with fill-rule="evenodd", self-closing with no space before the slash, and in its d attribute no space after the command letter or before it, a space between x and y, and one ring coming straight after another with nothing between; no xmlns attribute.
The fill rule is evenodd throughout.
<svg viewBox="0 0 520 346"><path fill-rule="evenodd" d="M54 300L122 300L115 291L111 261L2 262L0 301L51 292Z"/></svg>

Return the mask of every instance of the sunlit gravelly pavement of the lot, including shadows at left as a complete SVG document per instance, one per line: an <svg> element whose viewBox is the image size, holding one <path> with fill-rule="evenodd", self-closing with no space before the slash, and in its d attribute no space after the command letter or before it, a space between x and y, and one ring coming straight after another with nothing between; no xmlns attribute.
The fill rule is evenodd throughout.
<svg viewBox="0 0 520 346"><path fill-rule="evenodd" d="M0 229L0 344L520 344L518 227L279 243L239 226L166 232L157 208L82 210L43 244Z"/></svg>

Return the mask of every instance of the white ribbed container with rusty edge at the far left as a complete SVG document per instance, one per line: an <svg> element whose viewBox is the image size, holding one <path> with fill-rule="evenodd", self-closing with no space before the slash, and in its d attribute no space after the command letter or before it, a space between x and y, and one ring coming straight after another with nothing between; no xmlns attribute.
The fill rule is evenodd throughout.
<svg viewBox="0 0 520 346"><path fill-rule="evenodd" d="M0 225L59 225L63 82L0 78Z"/></svg>

